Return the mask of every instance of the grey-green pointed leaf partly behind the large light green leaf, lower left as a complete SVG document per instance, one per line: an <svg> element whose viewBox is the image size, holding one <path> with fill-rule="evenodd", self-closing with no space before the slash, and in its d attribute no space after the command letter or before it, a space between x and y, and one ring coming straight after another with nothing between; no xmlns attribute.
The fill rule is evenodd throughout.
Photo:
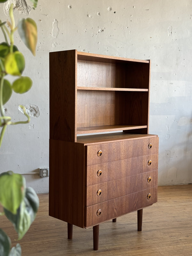
<svg viewBox="0 0 192 256"><path fill-rule="evenodd" d="M20 240L28 231L31 223L35 220L39 208L39 198L33 188L26 188L24 200L21 202L17 214L4 209L6 217L13 223Z"/></svg>

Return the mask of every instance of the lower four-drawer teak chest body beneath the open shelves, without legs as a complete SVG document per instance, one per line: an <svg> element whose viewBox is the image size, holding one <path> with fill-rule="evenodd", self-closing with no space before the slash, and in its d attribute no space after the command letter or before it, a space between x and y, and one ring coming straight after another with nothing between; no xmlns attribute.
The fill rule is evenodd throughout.
<svg viewBox="0 0 192 256"><path fill-rule="evenodd" d="M127 137L96 144L50 140L51 216L88 228L157 201L158 137Z"/></svg>

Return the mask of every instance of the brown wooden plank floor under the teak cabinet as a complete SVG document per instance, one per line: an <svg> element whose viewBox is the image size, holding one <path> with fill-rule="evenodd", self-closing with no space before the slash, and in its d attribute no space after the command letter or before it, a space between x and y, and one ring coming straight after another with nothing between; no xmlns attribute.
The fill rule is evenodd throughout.
<svg viewBox="0 0 192 256"><path fill-rule="evenodd" d="M99 250L93 251L92 228L74 226L67 239L67 223L48 216L48 194L39 195L40 209L20 241L23 256L48 255L192 255L192 185L158 188L158 203L143 210L143 231L137 231L137 212L100 224ZM0 227L16 242L16 232L6 218Z"/></svg>

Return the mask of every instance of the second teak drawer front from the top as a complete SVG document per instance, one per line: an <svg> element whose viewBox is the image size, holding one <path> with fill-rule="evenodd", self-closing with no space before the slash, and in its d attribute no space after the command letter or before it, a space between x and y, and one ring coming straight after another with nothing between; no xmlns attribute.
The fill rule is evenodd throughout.
<svg viewBox="0 0 192 256"><path fill-rule="evenodd" d="M158 169L158 154L87 166L86 186Z"/></svg>

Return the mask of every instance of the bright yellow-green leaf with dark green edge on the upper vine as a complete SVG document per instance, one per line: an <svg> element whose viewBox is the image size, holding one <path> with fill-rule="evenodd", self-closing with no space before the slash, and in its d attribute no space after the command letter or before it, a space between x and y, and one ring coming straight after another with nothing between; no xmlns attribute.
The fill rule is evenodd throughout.
<svg viewBox="0 0 192 256"><path fill-rule="evenodd" d="M5 58L5 71L12 76L20 76L25 68L25 58L19 51L9 53Z"/></svg>

